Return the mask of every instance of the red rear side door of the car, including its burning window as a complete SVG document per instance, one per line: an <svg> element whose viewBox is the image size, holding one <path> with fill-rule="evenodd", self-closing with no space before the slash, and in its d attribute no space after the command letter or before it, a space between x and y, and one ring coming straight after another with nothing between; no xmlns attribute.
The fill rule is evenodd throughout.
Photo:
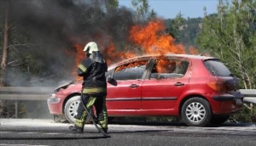
<svg viewBox="0 0 256 146"><path fill-rule="evenodd" d="M172 109L189 81L189 62L184 59L156 59L143 82L142 109Z"/></svg>

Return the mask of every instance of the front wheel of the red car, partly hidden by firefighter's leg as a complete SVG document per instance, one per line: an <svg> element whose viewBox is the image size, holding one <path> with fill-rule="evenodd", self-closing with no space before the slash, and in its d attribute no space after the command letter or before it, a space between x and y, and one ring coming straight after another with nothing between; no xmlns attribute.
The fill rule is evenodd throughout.
<svg viewBox="0 0 256 146"><path fill-rule="evenodd" d="M75 122L74 116L78 114L77 110L79 107L80 98L80 95L75 95L72 98L69 98L67 100L67 103L65 104L64 115L67 121L69 121L70 123Z"/></svg>

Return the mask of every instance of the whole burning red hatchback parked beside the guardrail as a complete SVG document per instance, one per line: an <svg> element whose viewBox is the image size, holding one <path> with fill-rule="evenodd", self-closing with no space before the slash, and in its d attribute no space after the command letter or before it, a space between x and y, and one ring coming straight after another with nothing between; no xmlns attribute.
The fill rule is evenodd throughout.
<svg viewBox="0 0 256 146"><path fill-rule="evenodd" d="M241 110L239 81L213 57L148 55L112 65L108 76L108 116L181 116L188 126L221 124ZM73 122L82 81L57 87L48 98L52 115Z"/></svg>

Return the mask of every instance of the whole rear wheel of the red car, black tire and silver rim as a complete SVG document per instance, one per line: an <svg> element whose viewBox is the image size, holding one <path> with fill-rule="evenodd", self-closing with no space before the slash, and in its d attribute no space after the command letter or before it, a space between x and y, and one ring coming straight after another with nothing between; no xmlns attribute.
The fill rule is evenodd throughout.
<svg viewBox="0 0 256 146"><path fill-rule="evenodd" d="M182 118L188 126L206 126L212 117L210 104L203 98L189 98L182 106Z"/></svg>

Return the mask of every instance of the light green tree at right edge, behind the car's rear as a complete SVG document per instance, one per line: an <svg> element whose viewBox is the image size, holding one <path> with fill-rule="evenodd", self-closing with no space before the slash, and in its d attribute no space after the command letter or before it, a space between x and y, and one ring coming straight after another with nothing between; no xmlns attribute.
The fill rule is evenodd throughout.
<svg viewBox="0 0 256 146"><path fill-rule="evenodd" d="M255 8L255 0L219 0L218 14L206 13L197 39L201 50L222 59L239 77L241 88L256 87Z"/></svg>

